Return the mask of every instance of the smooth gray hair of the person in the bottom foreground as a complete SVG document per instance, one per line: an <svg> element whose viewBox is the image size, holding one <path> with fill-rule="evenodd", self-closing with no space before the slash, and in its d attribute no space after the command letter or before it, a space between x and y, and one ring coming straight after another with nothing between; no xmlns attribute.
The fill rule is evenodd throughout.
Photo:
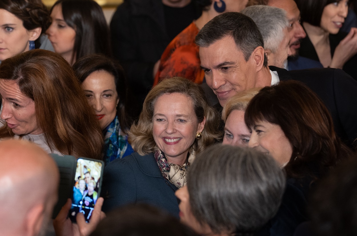
<svg viewBox="0 0 357 236"><path fill-rule="evenodd" d="M276 214L285 183L270 156L221 144L198 154L187 177L192 213L214 233L258 230Z"/></svg>

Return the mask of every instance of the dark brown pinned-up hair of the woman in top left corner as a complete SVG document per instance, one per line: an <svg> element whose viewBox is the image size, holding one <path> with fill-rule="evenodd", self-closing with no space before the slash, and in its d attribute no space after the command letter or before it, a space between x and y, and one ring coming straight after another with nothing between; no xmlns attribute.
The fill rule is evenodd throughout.
<svg viewBox="0 0 357 236"><path fill-rule="evenodd" d="M41 0L1 0L0 9L4 9L22 20L26 30L41 27L42 33L50 25L50 14ZM39 39L35 41L39 46ZM36 47L37 48L37 47Z"/></svg>

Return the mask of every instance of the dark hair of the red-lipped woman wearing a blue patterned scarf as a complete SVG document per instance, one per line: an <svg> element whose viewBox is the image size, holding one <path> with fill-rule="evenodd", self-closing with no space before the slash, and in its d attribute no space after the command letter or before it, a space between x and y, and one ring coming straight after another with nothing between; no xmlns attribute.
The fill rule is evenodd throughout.
<svg viewBox="0 0 357 236"><path fill-rule="evenodd" d="M130 129L132 117L134 115L130 113L130 111L132 111L131 109L126 109L131 106L129 103L130 100L128 99L128 89L126 86L124 70L119 62L103 55L88 55L76 61L73 68L80 83L83 83L83 81L95 71L104 70L114 76L115 88L119 97L116 115L119 118L121 129L127 133Z"/></svg>

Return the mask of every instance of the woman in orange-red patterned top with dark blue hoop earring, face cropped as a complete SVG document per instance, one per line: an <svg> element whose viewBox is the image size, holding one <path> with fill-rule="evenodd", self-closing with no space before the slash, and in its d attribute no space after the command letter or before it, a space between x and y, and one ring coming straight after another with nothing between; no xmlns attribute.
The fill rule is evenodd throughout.
<svg viewBox="0 0 357 236"><path fill-rule="evenodd" d="M241 11L248 0L195 0L201 7L202 15L178 34L162 53L154 86L162 79L181 76L195 83L202 83L204 72L200 67L198 46L195 37L198 31L215 16L228 11Z"/></svg>

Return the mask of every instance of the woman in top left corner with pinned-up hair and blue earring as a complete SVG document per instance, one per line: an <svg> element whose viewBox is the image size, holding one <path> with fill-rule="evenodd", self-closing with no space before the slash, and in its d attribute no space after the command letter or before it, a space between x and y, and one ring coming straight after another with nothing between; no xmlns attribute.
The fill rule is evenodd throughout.
<svg viewBox="0 0 357 236"><path fill-rule="evenodd" d="M0 52L0 63L34 48L53 51L44 35L50 15L41 0L1 0L0 25L1 48L6 48Z"/></svg>

